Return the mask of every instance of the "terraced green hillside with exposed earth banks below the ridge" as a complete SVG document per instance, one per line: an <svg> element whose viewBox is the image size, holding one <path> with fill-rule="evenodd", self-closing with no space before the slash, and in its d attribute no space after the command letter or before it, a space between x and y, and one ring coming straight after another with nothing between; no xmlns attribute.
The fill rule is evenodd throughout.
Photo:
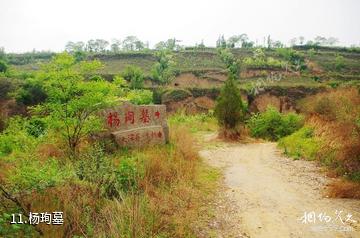
<svg viewBox="0 0 360 238"><path fill-rule="evenodd" d="M254 111L261 111L269 101L280 111L296 110L296 101L326 88L360 85L360 50L358 48L296 46L293 48L236 48L230 52L240 62L239 88ZM174 51L172 61L175 79L168 85L152 80L151 69L157 62L155 50L121 53L87 53L87 59L98 59L104 68L98 72L112 80L126 66L140 67L145 87L155 92L155 103L165 103L174 110L207 111L214 105L220 87L227 79L227 68L219 49L187 48ZM10 54L9 63L19 71L36 71L53 56L49 52ZM172 93L174 91L174 93ZM188 93L190 92L190 93ZM296 92L295 94L293 92ZM171 100L171 95L185 95ZM265 106L263 104L266 104Z"/></svg>

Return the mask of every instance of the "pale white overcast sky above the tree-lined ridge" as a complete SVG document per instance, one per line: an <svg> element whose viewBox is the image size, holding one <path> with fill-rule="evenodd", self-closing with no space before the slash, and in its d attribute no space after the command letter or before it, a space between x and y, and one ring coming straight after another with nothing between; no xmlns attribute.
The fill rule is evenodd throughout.
<svg viewBox="0 0 360 238"><path fill-rule="evenodd" d="M62 51L67 41L124 39L150 45L177 38L184 45L220 34L271 35L288 43L333 36L360 44L359 0L0 0L0 47L6 52Z"/></svg>

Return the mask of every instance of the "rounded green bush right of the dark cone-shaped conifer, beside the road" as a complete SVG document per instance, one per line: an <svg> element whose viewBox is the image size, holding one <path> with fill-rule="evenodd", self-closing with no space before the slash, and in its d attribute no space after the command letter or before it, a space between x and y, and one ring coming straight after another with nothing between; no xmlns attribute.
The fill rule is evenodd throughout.
<svg viewBox="0 0 360 238"><path fill-rule="evenodd" d="M268 107L265 112L253 115L247 125L252 136L276 141L300 129L303 123L300 115L281 114L275 108Z"/></svg>

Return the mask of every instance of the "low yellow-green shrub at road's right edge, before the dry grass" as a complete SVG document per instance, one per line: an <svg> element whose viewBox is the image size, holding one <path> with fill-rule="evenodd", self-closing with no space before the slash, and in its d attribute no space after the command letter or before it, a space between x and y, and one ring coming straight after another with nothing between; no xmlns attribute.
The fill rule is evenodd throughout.
<svg viewBox="0 0 360 238"><path fill-rule="evenodd" d="M294 159L314 160L320 150L320 141L314 137L313 129L310 127L303 127L280 139L278 145L286 155Z"/></svg>

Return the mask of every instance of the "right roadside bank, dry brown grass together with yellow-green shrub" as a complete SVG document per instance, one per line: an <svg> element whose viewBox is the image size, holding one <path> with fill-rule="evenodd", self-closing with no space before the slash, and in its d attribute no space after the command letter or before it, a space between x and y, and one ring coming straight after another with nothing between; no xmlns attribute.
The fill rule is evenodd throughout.
<svg viewBox="0 0 360 238"><path fill-rule="evenodd" d="M294 159L319 161L328 176L331 197L360 198L360 96L356 88L330 90L300 102L305 126L282 138L279 147Z"/></svg>

